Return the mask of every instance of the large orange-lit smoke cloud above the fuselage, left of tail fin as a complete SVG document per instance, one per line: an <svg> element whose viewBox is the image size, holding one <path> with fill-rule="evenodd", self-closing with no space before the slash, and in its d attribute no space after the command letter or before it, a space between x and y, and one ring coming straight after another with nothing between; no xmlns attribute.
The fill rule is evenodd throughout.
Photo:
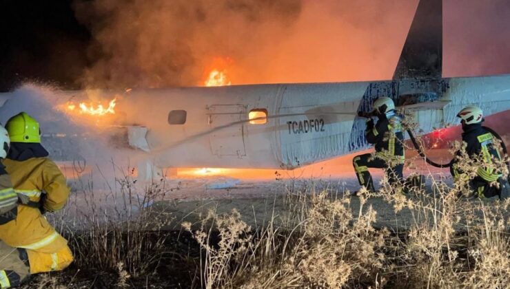
<svg viewBox="0 0 510 289"><path fill-rule="evenodd" d="M214 58L234 84L391 78L418 1L76 1L92 31L88 87L200 85Z"/></svg>

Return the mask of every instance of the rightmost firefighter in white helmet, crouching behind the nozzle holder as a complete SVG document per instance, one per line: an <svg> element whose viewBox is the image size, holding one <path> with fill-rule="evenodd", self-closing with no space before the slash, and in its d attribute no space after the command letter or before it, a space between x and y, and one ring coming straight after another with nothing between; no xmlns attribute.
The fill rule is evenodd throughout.
<svg viewBox="0 0 510 289"><path fill-rule="evenodd" d="M480 156L484 164L493 164L494 160L502 160L499 146L494 145L494 136L482 127L484 119L480 107L474 105L465 107L457 114L457 117L460 118L463 131L462 142L467 144L465 153L469 158ZM460 156L460 154L460 151L458 151L450 164L450 172L454 182L467 178L458 166L457 156ZM502 178L501 171L482 164L478 167L476 173L476 177L469 180L469 186L473 189L475 196L480 198L507 197L508 182ZM495 182L499 182L499 186L494 185Z"/></svg>

